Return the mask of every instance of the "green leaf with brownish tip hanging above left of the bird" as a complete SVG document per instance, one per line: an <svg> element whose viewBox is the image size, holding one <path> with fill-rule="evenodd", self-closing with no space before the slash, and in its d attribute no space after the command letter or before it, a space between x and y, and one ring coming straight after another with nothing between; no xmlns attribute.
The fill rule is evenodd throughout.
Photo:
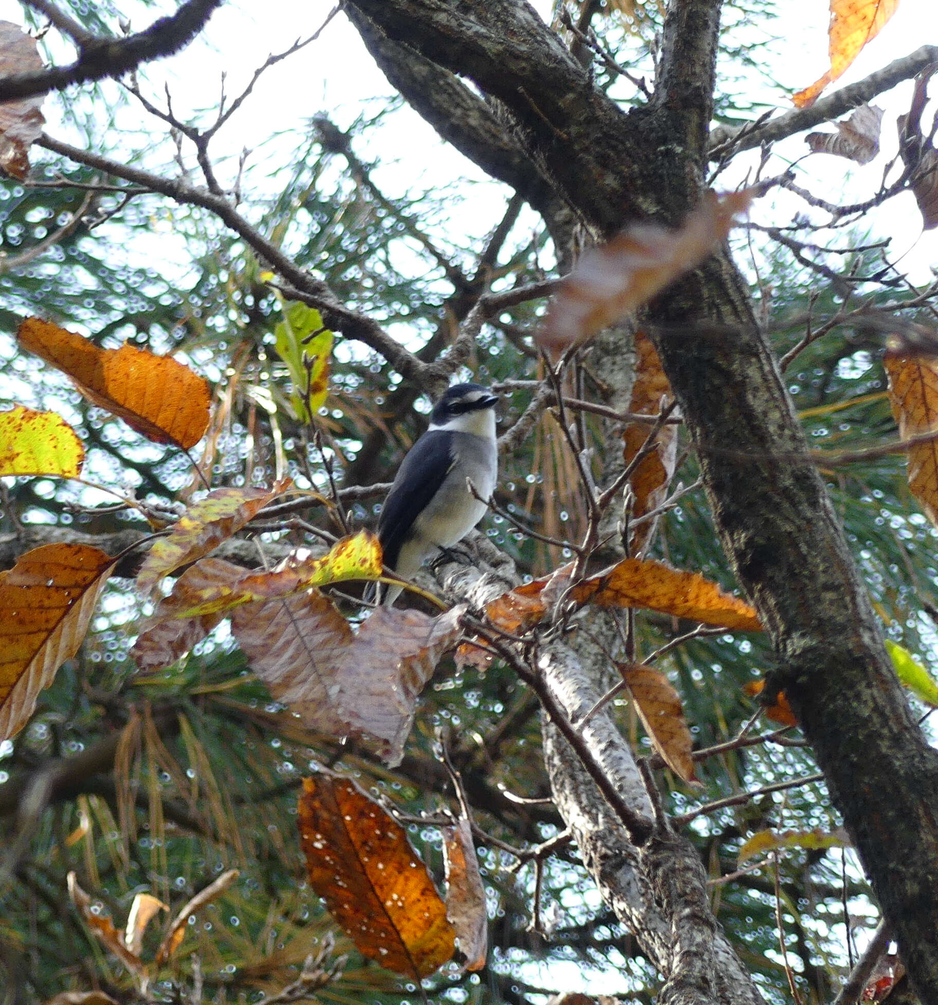
<svg viewBox="0 0 938 1005"><path fill-rule="evenodd" d="M315 308L284 306L284 320L273 330L274 348L287 364L293 383L291 402L301 422L312 422L329 393L329 361L333 334Z"/></svg>

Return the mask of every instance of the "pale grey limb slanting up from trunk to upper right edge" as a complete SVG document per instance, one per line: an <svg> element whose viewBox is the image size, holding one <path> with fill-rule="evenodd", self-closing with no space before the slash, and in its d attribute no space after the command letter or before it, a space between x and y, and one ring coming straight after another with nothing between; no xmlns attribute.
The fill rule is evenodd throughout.
<svg viewBox="0 0 938 1005"><path fill-rule="evenodd" d="M829 122L861 105L866 105L877 94L895 87L897 83L910 79L936 59L938 59L938 45L923 45L915 52L896 59L862 80L840 87L826 97L821 97L810 108L786 112L756 129L748 126L741 126L738 129L720 126L710 134L709 155L711 158L716 158L730 150L733 153L752 150L754 147L761 147L763 143L784 140L785 137L794 136L795 133Z"/></svg>

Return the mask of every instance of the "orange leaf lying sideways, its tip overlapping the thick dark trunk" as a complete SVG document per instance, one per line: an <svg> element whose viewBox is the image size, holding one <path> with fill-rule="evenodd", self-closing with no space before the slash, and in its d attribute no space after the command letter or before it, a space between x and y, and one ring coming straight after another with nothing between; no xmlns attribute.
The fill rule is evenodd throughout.
<svg viewBox="0 0 938 1005"><path fill-rule="evenodd" d="M664 562L623 559L605 573L574 587L579 603L600 607L646 607L663 614L734 631L762 631L753 607L700 573L672 569Z"/></svg>

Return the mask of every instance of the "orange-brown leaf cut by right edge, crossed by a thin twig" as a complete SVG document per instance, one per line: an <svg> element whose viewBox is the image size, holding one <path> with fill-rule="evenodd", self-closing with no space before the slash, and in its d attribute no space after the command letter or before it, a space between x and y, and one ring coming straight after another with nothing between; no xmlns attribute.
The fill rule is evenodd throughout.
<svg viewBox="0 0 938 1005"><path fill-rule="evenodd" d="M889 399L903 440L934 432L936 439L908 449L912 494L925 516L938 527L938 359L927 356L887 356Z"/></svg>

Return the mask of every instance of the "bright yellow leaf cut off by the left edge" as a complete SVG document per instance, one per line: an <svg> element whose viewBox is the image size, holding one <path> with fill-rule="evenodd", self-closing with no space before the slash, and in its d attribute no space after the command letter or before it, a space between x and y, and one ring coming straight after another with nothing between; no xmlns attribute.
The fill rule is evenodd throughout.
<svg viewBox="0 0 938 1005"><path fill-rule="evenodd" d="M83 461L78 434L55 412L36 412L24 405L0 412L0 475L76 478Z"/></svg>

